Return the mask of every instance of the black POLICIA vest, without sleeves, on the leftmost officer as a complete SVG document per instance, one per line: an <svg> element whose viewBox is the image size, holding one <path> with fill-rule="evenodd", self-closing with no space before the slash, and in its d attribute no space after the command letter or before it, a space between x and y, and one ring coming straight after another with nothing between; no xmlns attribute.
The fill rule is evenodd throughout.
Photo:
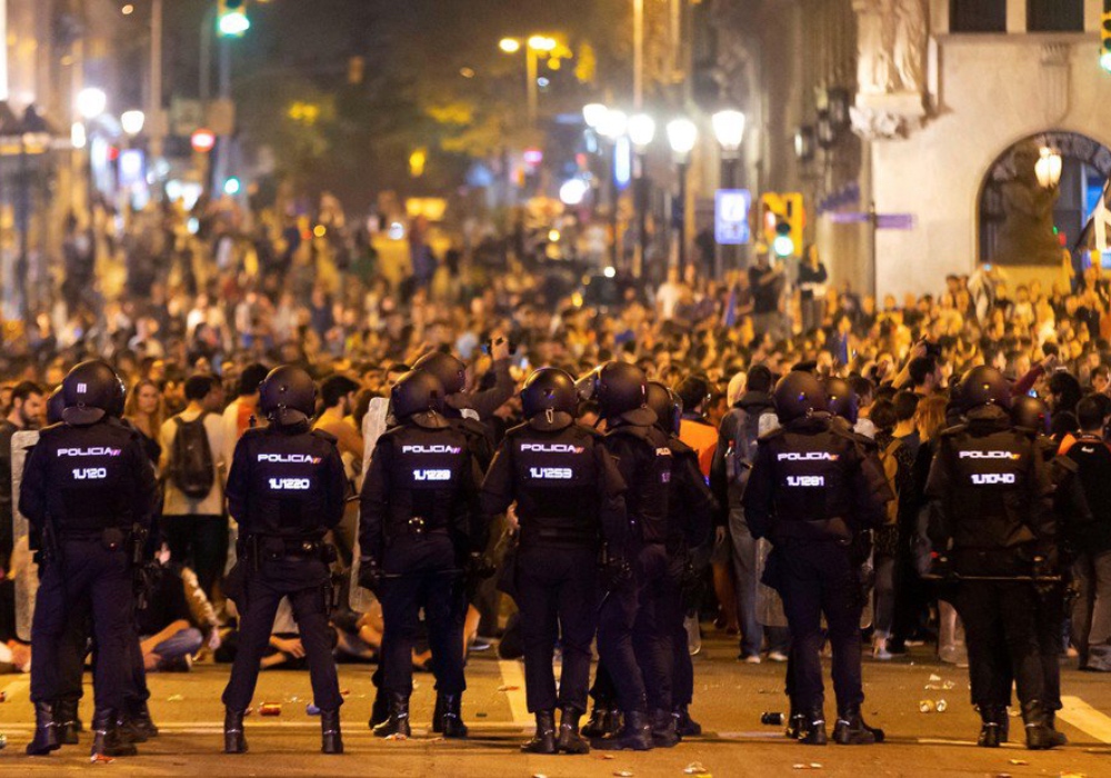
<svg viewBox="0 0 1111 778"><path fill-rule="evenodd" d="M39 446L48 456L47 499L59 531L131 528L134 452L129 449L139 445L136 436L117 423L56 425L42 431Z"/></svg>

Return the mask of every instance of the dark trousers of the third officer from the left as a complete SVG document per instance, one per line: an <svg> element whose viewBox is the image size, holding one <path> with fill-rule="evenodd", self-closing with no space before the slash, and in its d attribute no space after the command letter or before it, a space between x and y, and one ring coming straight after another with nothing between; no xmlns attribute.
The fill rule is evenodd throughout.
<svg viewBox="0 0 1111 778"><path fill-rule="evenodd" d="M451 538L441 532L402 535L387 547L382 571L382 690L412 694L411 656L423 608L436 688L462 694L467 592Z"/></svg>

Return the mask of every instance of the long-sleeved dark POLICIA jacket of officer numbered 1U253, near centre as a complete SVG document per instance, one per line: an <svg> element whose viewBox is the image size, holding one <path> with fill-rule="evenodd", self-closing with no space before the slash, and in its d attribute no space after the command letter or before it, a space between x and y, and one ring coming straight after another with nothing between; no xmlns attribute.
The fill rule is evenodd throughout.
<svg viewBox="0 0 1111 778"><path fill-rule="evenodd" d="M565 416L565 415L559 415ZM521 543L620 547L628 529L625 482L602 436L569 416L538 417L506 433L482 481L482 512L517 501Z"/></svg>

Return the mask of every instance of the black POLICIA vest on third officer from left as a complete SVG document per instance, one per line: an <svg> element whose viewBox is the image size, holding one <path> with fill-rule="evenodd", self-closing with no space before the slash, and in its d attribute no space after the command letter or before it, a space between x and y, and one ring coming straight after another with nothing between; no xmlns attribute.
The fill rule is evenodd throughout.
<svg viewBox="0 0 1111 778"><path fill-rule="evenodd" d="M404 531L413 518L423 519L428 531L463 529L463 486L471 467L466 436L450 427L433 430L407 425L383 437L392 448L387 536Z"/></svg>

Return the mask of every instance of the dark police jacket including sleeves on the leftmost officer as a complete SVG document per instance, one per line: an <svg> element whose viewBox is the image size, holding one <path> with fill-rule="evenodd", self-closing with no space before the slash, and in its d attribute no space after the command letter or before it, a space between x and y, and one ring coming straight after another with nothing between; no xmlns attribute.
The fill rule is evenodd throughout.
<svg viewBox="0 0 1111 778"><path fill-rule="evenodd" d="M157 485L139 433L106 417L47 427L23 469L19 510L42 530L97 532L150 526Z"/></svg>

